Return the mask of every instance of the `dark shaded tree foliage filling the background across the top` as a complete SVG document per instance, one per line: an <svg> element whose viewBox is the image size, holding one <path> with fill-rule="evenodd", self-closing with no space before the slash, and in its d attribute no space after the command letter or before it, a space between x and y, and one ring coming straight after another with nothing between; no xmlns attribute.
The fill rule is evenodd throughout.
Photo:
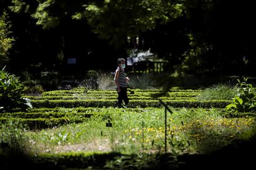
<svg viewBox="0 0 256 170"><path fill-rule="evenodd" d="M114 68L129 49L151 49L168 69L193 74L254 75L251 1L1 1L17 42L15 70L65 73ZM230 10L229 10L230 9ZM51 39L51 41L49 41ZM82 41L82 43L80 43ZM22 56L22 57L19 57ZM102 62L95 64L100 59ZM23 63L20 68L17 63ZM72 73L70 73L72 74Z"/></svg>

